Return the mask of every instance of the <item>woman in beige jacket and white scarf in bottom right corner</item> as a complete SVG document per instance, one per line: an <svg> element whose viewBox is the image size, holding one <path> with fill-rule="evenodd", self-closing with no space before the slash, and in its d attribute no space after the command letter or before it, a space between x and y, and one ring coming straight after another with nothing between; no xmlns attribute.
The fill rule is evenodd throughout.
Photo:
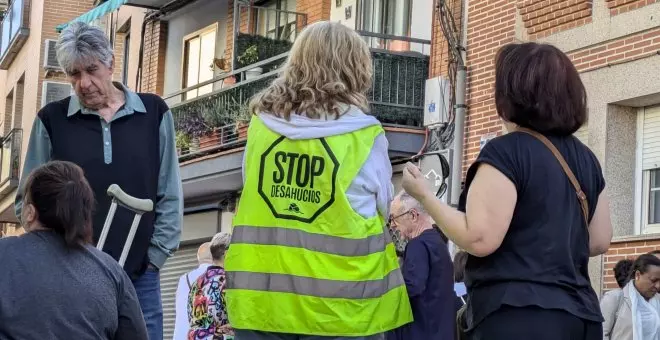
<svg viewBox="0 0 660 340"><path fill-rule="evenodd" d="M660 259L640 255L633 263L630 281L623 289L608 292L600 303L605 340L657 340L660 338ZM634 334L634 336L633 336Z"/></svg>

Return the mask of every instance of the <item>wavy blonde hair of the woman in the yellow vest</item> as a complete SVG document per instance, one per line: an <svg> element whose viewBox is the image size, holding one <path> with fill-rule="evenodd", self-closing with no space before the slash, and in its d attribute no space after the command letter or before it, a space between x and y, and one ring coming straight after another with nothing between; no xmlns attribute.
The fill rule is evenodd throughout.
<svg viewBox="0 0 660 340"><path fill-rule="evenodd" d="M340 23L317 22L301 32L283 71L255 95L250 111L287 120L292 113L338 118L345 104L368 112L372 74L371 52L362 37Z"/></svg>

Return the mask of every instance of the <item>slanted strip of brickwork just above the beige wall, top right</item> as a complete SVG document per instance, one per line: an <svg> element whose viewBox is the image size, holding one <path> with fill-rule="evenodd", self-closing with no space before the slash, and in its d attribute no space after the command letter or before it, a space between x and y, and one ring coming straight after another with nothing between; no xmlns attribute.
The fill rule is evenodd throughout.
<svg viewBox="0 0 660 340"><path fill-rule="evenodd" d="M660 53L660 27L575 51L569 54L569 57L578 71L588 72L658 53Z"/></svg>

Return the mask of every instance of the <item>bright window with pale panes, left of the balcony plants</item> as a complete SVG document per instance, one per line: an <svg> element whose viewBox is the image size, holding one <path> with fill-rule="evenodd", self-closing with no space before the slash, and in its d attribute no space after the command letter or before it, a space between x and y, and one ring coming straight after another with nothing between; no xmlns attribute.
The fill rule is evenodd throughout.
<svg viewBox="0 0 660 340"><path fill-rule="evenodd" d="M217 25L211 25L184 38L183 88L213 79ZM185 99L213 91L213 84L186 92Z"/></svg>

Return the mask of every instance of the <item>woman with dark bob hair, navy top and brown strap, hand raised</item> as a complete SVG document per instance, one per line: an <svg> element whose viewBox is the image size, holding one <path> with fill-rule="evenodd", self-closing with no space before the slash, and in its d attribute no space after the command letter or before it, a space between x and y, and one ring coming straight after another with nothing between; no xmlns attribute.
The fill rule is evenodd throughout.
<svg viewBox="0 0 660 340"><path fill-rule="evenodd" d="M495 106L508 133L470 166L458 210L412 164L403 187L469 253L468 339L600 340L588 266L607 251L612 225L600 164L572 136L587 120L584 85L551 45L505 45L495 66Z"/></svg>

